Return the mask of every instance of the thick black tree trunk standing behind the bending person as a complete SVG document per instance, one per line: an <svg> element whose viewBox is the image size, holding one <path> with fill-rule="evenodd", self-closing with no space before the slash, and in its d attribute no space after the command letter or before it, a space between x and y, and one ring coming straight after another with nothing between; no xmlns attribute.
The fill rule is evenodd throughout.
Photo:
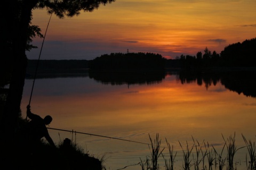
<svg viewBox="0 0 256 170"><path fill-rule="evenodd" d="M24 1L23 4L18 4L18 1L4 1L9 7L11 17L6 17L6 22L9 25L4 25L7 29L5 33L11 40L12 53L9 54L12 58L12 77L9 87L9 92L6 98L4 112L1 115L1 135L0 135L0 152L1 161L3 163L15 162L15 137L18 126L18 118L20 113L20 103L22 99L23 86L26 77L27 57L26 57L26 43L28 25L31 20L31 10L35 6L31 6L31 1ZM29 4L30 3L30 4ZM6 14L5 14L6 15ZM10 21L11 20L11 21ZM10 27L11 23L11 27Z"/></svg>

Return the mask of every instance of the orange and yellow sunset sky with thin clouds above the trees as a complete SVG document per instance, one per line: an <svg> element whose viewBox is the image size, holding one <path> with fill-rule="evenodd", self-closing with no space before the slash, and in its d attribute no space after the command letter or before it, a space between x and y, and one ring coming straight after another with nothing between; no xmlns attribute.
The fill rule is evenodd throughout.
<svg viewBox="0 0 256 170"><path fill-rule="evenodd" d="M45 33L50 15L33 11L32 24ZM92 60L110 53L158 53L165 58L211 52L256 37L255 0L116 0L73 18L53 15L41 60ZM29 59L43 39L35 38Z"/></svg>

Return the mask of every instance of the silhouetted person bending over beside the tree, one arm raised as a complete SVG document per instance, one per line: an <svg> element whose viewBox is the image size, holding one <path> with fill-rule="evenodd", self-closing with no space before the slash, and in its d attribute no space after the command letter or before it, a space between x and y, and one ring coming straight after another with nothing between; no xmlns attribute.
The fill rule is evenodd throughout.
<svg viewBox="0 0 256 170"><path fill-rule="evenodd" d="M28 123L28 135L30 145L35 147L41 139L44 137L51 146L55 147L55 144L50 137L46 125L49 125L52 122L52 117L50 115L45 116L44 118L31 113L30 105L27 106L27 116L30 118Z"/></svg>

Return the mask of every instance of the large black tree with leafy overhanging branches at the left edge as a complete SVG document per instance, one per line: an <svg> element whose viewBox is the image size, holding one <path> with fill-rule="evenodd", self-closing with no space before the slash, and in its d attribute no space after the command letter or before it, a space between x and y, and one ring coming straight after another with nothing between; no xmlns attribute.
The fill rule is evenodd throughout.
<svg viewBox="0 0 256 170"><path fill-rule="evenodd" d="M3 0L1 1L1 52L7 52L5 57L11 58L11 81L7 95L4 113L0 115L1 146L10 146L14 143L17 130L20 103L25 83L27 57L29 49L28 33L32 19L32 10L46 8L48 13L54 13L63 18L78 15L81 11L93 11L100 4L107 4L114 0L98 1L61 1L61 0ZM8 13L6 13L8 12ZM34 30L36 31L36 30ZM30 46L31 47L31 46ZM1 150L2 152L2 150ZM3 152L1 153L3 154ZM7 156L5 156L7 157ZM8 159L8 158L6 158Z"/></svg>

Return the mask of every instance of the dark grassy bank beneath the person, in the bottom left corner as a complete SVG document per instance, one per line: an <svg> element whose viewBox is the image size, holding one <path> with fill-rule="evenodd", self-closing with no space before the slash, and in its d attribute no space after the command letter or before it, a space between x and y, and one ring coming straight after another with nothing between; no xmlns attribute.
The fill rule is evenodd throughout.
<svg viewBox="0 0 256 170"><path fill-rule="evenodd" d="M2 105L3 106L3 105ZM1 111L2 111L1 107ZM26 140L25 126L28 122L19 119L15 142L1 146L0 160L3 169L85 169L102 170L102 158L95 158L70 139L64 139L50 146L45 140L30 146Z"/></svg>

